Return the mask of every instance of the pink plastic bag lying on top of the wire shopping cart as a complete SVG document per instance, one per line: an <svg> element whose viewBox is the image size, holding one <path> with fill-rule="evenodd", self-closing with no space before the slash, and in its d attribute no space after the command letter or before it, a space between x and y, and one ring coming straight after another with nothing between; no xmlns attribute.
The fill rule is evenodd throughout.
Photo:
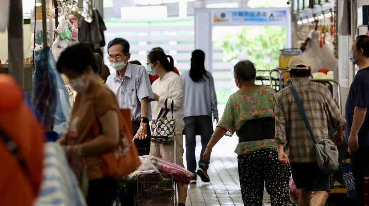
<svg viewBox="0 0 369 206"><path fill-rule="evenodd" d="M187 187L190 184L192 173L187 169L159 157L150 155L141 157L148 160L152 165L155 165L159 172L171 173L178 184L184 187Z"/></svg>

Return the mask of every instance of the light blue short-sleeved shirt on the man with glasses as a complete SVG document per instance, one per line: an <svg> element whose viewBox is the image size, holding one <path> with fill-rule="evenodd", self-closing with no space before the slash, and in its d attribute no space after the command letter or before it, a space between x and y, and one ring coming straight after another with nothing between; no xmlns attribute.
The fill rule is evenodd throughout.
<svg viewBox="0 0 369 206"><path fill-rule="evenodd" d="M130 109L131 121L139 122L141 118L141 100L149 97L148 119L151 118L151 104L154 94L150 84L149 74L142 65L128 63L123 80L119 79L118 71L112 73L106 85L117 97L119 108Z"/></svg>

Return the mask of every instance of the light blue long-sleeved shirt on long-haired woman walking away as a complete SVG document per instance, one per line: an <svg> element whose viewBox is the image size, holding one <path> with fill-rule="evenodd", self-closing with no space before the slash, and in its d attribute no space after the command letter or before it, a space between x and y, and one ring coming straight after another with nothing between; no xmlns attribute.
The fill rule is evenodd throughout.
<svg viewBox="0 0 369 206"><path fill-rule="evenodd" d="M218 116L217 94L215 93L214 80L210 72L206 72L209 78L205 81L194 82L190 77L190 71L182 73L184 80L184 117L191 116Z"/></svg>

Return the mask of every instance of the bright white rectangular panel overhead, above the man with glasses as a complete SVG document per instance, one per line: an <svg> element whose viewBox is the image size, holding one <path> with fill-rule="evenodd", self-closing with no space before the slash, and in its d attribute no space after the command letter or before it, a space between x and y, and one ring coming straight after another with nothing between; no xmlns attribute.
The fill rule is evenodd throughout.
<svg viewBox="0 0 369 206"><path fill-rule="evenodd" d="M166 19L168 9L166 6L131 6L122 7L123 20L147 20L147 19Z"/></svg>

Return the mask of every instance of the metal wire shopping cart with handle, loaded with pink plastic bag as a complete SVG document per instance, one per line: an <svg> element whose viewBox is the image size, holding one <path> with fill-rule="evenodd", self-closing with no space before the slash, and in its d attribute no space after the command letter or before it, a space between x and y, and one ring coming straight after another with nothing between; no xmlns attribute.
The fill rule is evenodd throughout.
<svg viewBox="0 0 369 206"><path fill-rule="evenodd" d="M174 164L176 163L176 142L174 137L148 136L152 139L169 138L174 143ZM134 141L134 138L133 138ZM155 143L159 144L159 143ZM147 148L137 148L137 150ZM164 151L168 151L164 155ZM172 163L171 147L150 147L150 155L166 159ZM165 157L165 158L164 158ZM135 206L176 206L177 187L171 173L142 173L137 176L137 192L135 194Z"/></svg>

